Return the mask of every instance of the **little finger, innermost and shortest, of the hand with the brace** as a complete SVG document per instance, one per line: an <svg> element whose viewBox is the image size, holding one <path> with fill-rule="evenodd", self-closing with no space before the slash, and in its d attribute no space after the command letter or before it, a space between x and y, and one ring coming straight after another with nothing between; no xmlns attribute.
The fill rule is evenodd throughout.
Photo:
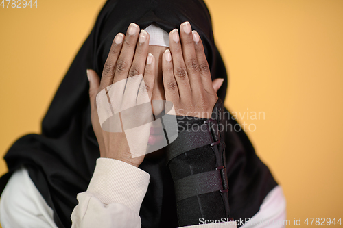
<svg viewBox="0 0 343 228"><path fill-rule="evenodd" d="M174 77L173 61L169 49L162 55L162 74L163 86L165 86L165 99L171 101L174 105L180 101L178 84Z"/></svg>

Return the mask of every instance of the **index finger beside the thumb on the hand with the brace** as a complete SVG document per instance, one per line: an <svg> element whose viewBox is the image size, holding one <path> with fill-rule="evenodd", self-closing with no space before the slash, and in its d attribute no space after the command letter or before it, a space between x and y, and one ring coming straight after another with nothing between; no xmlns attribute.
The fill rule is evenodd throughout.
<svg viewBox="0 0 343 228"><path fill-rule="evenodd" d="M198 59L198 68L200 71L200 77L202 80L202 86L204 90L209 94L215 94L215 90L212 86L211 72L209 68L209 63L207 62L206 55L204 52L204 46L198 32L192 31L194 47L196 49L196 57Z"/></svg>

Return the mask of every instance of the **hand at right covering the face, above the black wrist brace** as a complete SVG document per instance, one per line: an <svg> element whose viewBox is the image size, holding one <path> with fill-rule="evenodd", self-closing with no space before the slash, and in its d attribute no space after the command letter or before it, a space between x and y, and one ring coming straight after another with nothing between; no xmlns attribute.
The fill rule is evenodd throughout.
<svg viewBox="0 0 343 228"><path fill-rule="evenodd" d="M163 53L165 98L174 104L176 115L211 118L218 99L214 87L221 83L212 83L202 41L189 22L180 25L180 35L181 40L178 29L169 33L170 51Z"/></svg>

